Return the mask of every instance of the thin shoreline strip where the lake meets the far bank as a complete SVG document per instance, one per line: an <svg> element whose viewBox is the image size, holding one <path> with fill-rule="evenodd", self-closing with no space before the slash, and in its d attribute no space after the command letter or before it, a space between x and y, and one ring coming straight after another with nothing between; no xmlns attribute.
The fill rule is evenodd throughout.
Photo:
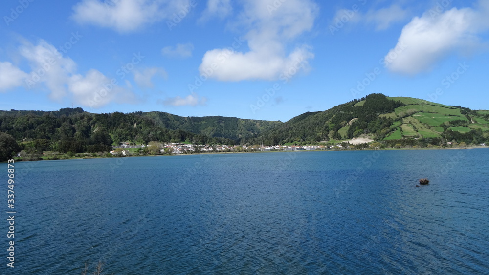
<svg viewBox="0 0 489 275"><path fill-rule="evenodd" d="M264 151L264 152L210 152L210 153L195 153L195 154L176 154L176 155L131 155L131 156L112 156L112 157L72 157L66 159L40 159L40 160L22 160L19 157L13 159L17 161L50 161L50 160L70 160L70 159L112 159L112 158L126 158L126 157L173 157L173 156L190 156L190 155L218 155L218 154L256 154L256 153L287 153L287 152L341 152L341 151L412 151L412 150L467 150L473 148L489 148L489 146L466 146L456 148L384 148L384 149L364 149L364 150L300 150L300 151ZM2 161L0 163L6 163Z"/></svg>

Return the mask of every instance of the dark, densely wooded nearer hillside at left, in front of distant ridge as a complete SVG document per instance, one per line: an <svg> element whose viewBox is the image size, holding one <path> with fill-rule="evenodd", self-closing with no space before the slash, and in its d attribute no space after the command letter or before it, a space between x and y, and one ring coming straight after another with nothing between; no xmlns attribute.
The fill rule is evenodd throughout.
<svg viewBox="0 0 489 275"><path fill-rule="evenodd" d="M59 111L1 111L0 132L10 134L21 146L33 151L61 153L110 151L122 141L234 144L234 140L209 137L183 130L170 130L138 113L93 114L81 108Z"/></svg>

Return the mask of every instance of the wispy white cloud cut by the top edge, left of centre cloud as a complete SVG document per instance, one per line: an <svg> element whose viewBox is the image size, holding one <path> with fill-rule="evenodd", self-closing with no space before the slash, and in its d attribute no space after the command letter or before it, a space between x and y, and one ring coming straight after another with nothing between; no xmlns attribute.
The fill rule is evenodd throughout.
<svg viewBox="0 0 489 275"><path fill-rule="evenodd" d="M82 0L73 7L79 24L132 32L147 24L171 20L174 13L189 10L189 0Z"/></svg>

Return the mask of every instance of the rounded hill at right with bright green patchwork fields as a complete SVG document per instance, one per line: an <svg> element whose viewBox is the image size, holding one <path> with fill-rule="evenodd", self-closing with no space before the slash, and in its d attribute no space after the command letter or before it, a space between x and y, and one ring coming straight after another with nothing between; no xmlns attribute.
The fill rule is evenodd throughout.
<svg viewBox="0 0 489 275"><path fill-rule="evenodd" d="M489 111L486 110L371 94L324 112L304 113L252 143L339 142L362 136L384 143L479 144L489 140L488 131Z"/></svg>

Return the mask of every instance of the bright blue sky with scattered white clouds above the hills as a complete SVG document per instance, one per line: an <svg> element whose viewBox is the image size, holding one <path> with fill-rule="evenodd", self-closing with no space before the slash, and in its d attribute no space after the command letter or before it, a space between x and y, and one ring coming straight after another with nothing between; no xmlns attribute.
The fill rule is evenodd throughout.
<svg viewBox="0 0 489 275"><path fill-rule="evenodd" d="M287 121L370 93L489 109L489 0L331 2L1 1L0 109Z"/></svg>

